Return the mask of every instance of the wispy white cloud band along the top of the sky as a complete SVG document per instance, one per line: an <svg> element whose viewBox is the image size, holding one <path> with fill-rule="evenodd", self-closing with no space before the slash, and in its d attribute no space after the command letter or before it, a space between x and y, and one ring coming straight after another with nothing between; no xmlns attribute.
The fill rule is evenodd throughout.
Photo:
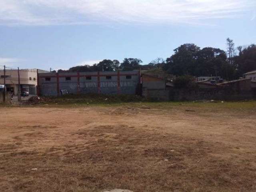
<svg viewBox="0 0 256 192"><path fill-rule="evenodd" d="M0 24L198 24L255 8L254 0L0 0Z"/></svg>

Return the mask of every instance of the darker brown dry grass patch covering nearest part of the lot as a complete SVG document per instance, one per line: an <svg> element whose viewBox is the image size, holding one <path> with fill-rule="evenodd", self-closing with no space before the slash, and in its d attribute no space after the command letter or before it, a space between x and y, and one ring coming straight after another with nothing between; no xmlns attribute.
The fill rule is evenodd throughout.
<svg viewBox="0 0 256 192"><path fill-rule="evenodd" d="M19 144L0 145L1 192L256 190L254 153L234 158L235 149L219 142L115 125L70 131L63 140L74 143L22 150L41 136L32 131Z"/></svg>

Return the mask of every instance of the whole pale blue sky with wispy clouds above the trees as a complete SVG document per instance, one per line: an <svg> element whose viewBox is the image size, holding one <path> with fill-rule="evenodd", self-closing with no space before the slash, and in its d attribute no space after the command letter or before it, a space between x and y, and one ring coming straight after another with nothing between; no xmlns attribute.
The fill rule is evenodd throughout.
<svg viewBox="0 0 256 192"><path fill-rule="evenodd" d="M256 0L0 0L0 66L166 59L184 43L256 43Z"/></svg>

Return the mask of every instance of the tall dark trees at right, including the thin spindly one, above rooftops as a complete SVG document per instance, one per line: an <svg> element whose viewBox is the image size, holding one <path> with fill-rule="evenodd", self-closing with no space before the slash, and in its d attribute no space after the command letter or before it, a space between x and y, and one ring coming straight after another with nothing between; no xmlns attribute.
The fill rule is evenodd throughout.
<svg viewBox="0 0 256 192"><path fill-rule="evenodd" d="M236 54L238 51L238 54ZM227 38L227 51L195 44L183 44L166 59L163 67L176 76L221 76L227 80L242 77L244 73L256 70L256 45L238 46Z"/></svg>

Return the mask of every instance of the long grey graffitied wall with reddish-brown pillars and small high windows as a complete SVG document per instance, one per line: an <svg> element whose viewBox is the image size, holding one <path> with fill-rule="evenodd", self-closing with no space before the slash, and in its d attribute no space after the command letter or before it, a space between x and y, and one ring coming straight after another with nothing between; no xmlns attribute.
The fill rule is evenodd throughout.
<svg viewBox="0 0 256 192"><path fill-rule="evenodd" d="M136 94L140 82L138 71L45 73L38 76L40 94L49 96L60 95L61 90L71 94Z"/></svg>

